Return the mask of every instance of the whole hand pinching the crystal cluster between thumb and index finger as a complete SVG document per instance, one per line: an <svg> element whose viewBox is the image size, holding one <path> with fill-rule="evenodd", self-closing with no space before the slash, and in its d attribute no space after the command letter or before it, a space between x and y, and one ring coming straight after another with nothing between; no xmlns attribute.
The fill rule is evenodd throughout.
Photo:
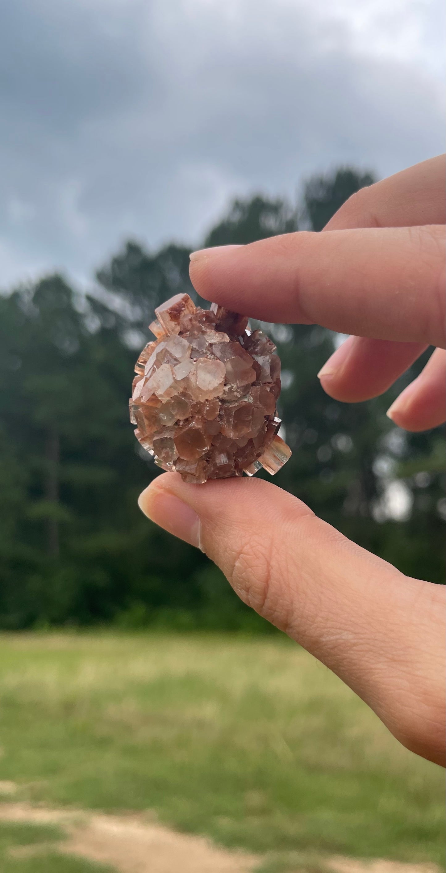
<svg viewBox="0 0 446 873"><path fill-rule="evenodd" d="M435 345L388 411L408 430L435 427L446 417L444 177L434 158L360 190L320 234L195 252L192 282L257 319L355 334L319 373L341 401L381 394ZM242 600L337 673L401 743L443 762L443 586L404 576L259 479L197 486L165 473L140 505L201 547Z"/></svg>

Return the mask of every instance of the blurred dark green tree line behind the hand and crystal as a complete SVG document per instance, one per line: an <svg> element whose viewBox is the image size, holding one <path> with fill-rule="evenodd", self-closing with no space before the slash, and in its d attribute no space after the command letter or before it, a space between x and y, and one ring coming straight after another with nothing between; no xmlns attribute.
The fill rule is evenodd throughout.
<svg viewBox="0 0 446 873"><path fill-rule="evenodd" d="M204 245L321 230L372 180L340 169L310 180L299 208L232 204ZM157 468L136 443L127 398L154 306L189 283L189 249L128 242L87 294L52 275L0 297L0 627L115 622L267 629L198 551L137 509ZM273 289L271 289L273 291ZM280 411L293 455L276 482L408 574L443 581L443 431L408 435L385 397L333 402L316 374L333 351L321 327L268 326L285 370ZM426 355L424 355L424 359ZM398 478L408 517L388 514Z"/></svg>

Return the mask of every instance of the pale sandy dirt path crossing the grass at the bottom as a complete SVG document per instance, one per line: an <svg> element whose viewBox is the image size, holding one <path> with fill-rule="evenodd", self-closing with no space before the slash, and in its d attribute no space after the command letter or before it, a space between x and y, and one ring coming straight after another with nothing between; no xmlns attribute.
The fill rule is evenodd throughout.
<svg viewBox="0 0 446 873"><path fill-rule="evenodd" d="M111 864L119 873L254 873L259 856L231 852L204 837L178 834L143 815L98 815L85 810L0 803L0 820L60 824L67 839L58 851ZM435 864L333 857L333 873L438 873Z"/></svg>

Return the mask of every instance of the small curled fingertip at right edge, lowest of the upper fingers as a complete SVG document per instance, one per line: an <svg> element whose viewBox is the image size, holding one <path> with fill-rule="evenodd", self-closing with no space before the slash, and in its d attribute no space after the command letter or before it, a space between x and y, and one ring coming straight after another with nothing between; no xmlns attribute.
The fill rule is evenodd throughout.
<svg viewBox="0 0 446 873"><path fill-rule="evenodd" d="M436 348L419 376L388 409L388 417L405 430L430 430L446 421L446 352Z"/></svg>

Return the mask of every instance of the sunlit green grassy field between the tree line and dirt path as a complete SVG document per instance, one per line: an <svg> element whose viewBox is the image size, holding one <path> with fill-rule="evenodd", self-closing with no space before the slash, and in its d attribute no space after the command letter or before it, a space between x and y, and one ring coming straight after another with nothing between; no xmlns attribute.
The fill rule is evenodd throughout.
<svg viewBox="0 0 446 873"><path fill-rule="evenodd" d="M3 635L0 695L17 799L154 810L271 870L443 861L443 772L285 638Z"/></svg>

